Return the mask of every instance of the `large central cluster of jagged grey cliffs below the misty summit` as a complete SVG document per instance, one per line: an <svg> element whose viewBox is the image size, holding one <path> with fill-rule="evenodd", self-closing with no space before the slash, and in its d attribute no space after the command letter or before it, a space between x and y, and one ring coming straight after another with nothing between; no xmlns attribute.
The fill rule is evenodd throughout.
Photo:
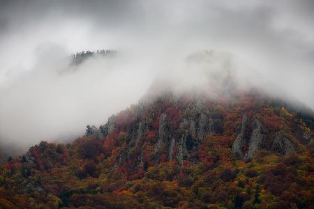
<svg viewBox="0 0 314 209"><path fill-rule="evenodd" d="M215 130L213 119L205 113L206 108L200 101L188 104L188 114L181 118L177 130L167 121L167 114L161 114L154 151L167 150L168 158L180 163L186 160L189 152L196 150L204 138ZM139 130L141 128L142 125L139 125Z"/></svg>

